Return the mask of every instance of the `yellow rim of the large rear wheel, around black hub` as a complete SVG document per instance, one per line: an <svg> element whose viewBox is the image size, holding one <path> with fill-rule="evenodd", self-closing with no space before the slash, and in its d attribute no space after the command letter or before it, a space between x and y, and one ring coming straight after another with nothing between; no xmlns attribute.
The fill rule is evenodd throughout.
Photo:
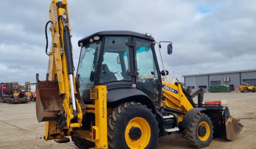
<svg viewBox="0 0 256 149"><path fill-rule="evenodd" d="M129 131L132 127L138 127L141 129L141 137L138 140L133 140L129 137ZM150 141L151 129L149 123L141 118L133 118L125 129L125 141L129 148L131 149L142 149L145 148Z"/></svg>

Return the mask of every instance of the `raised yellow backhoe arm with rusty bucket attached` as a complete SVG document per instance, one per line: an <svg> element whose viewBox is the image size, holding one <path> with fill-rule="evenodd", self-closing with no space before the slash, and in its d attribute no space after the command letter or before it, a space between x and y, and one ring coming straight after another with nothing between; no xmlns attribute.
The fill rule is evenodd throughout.
<svg viewBox="0 0 256 149"><path fill-rule="evenodd" d="M36 113L38 122L45 123L45 140L64 138L63 129L81 127L85 105L76 96L74 84L71 28L66 0L52 0L49 8L51 39L46 81L37 74Z"/></svg>

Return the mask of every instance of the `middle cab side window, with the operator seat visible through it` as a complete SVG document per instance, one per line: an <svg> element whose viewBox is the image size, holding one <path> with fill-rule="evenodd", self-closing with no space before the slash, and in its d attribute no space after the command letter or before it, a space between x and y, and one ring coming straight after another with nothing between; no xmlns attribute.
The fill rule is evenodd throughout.
<svg viewBox="0 0 256 149"><path fill-rule="evenodd" d="M130 81L128 37L105 38L99 83Z"/></svg>

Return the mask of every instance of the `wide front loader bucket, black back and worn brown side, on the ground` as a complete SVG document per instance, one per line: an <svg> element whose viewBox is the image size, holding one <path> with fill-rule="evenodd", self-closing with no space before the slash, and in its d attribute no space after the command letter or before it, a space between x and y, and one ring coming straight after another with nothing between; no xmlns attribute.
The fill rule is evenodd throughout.
<svg viewBox="0 0 256 149"><path fill-rule="evenodd" d="M235 137L243 129L243 125L239 122L239 119L230 116L228 107L203 106L203 108L207 109L203 113L207 114L213 122L214 137L235 140Z"/></svg>

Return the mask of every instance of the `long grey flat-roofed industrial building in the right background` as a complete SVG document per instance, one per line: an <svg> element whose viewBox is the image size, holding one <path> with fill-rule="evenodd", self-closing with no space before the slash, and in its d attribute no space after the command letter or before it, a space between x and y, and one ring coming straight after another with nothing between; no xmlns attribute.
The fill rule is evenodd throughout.
<svg viewBox="0 0 256 149"><path fill-rule="evenodd" d="M201 87L209 90L209 86L211 85L227 85L234 91L235 87L239 87L243 82L256 85L256 69L206 74L189 74L182 76L184 77L185 88L191 88L192 90L196 90Z"/></svg>

